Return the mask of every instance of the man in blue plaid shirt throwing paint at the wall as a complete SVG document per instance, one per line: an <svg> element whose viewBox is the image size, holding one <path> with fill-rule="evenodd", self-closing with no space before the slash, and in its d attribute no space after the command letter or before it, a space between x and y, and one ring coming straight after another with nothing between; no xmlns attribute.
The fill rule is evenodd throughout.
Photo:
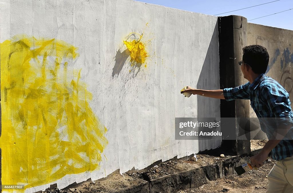
<svg viewBox="0 0 293 193"><path fill-rule="evenodd" d="M245 79L249 82L236 88L224 90L201 90L188 87L182 91L211 98L249 99L251 107L260 119L261 129L267 134L268 142L261 151L250 158L251 165L259 168L272 151L277 160L268 175L268 193L293 192L293 112L289 94L274 79L265 75L269 54L265 47L250 45L243 48L243 60L239 62ZM275 118L275 124L262 118ZM286 136L284 138L284 136Z"/></svg>

